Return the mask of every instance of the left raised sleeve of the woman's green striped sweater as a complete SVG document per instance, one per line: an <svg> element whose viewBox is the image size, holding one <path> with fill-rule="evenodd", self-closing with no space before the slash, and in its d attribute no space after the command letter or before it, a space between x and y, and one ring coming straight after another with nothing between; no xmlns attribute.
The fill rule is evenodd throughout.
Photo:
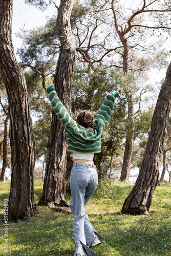
<svg viewBox="0 0 171 256"><path fill-rule="evenodd" d="M58 98L53 84L50 84L50 86L47 87L47 93L56 115L58 116L63 127L66 130L66 127L68 126L68 124L73 123L74 120L68 113L66 107L62 104L62 102Z"/></svg>

